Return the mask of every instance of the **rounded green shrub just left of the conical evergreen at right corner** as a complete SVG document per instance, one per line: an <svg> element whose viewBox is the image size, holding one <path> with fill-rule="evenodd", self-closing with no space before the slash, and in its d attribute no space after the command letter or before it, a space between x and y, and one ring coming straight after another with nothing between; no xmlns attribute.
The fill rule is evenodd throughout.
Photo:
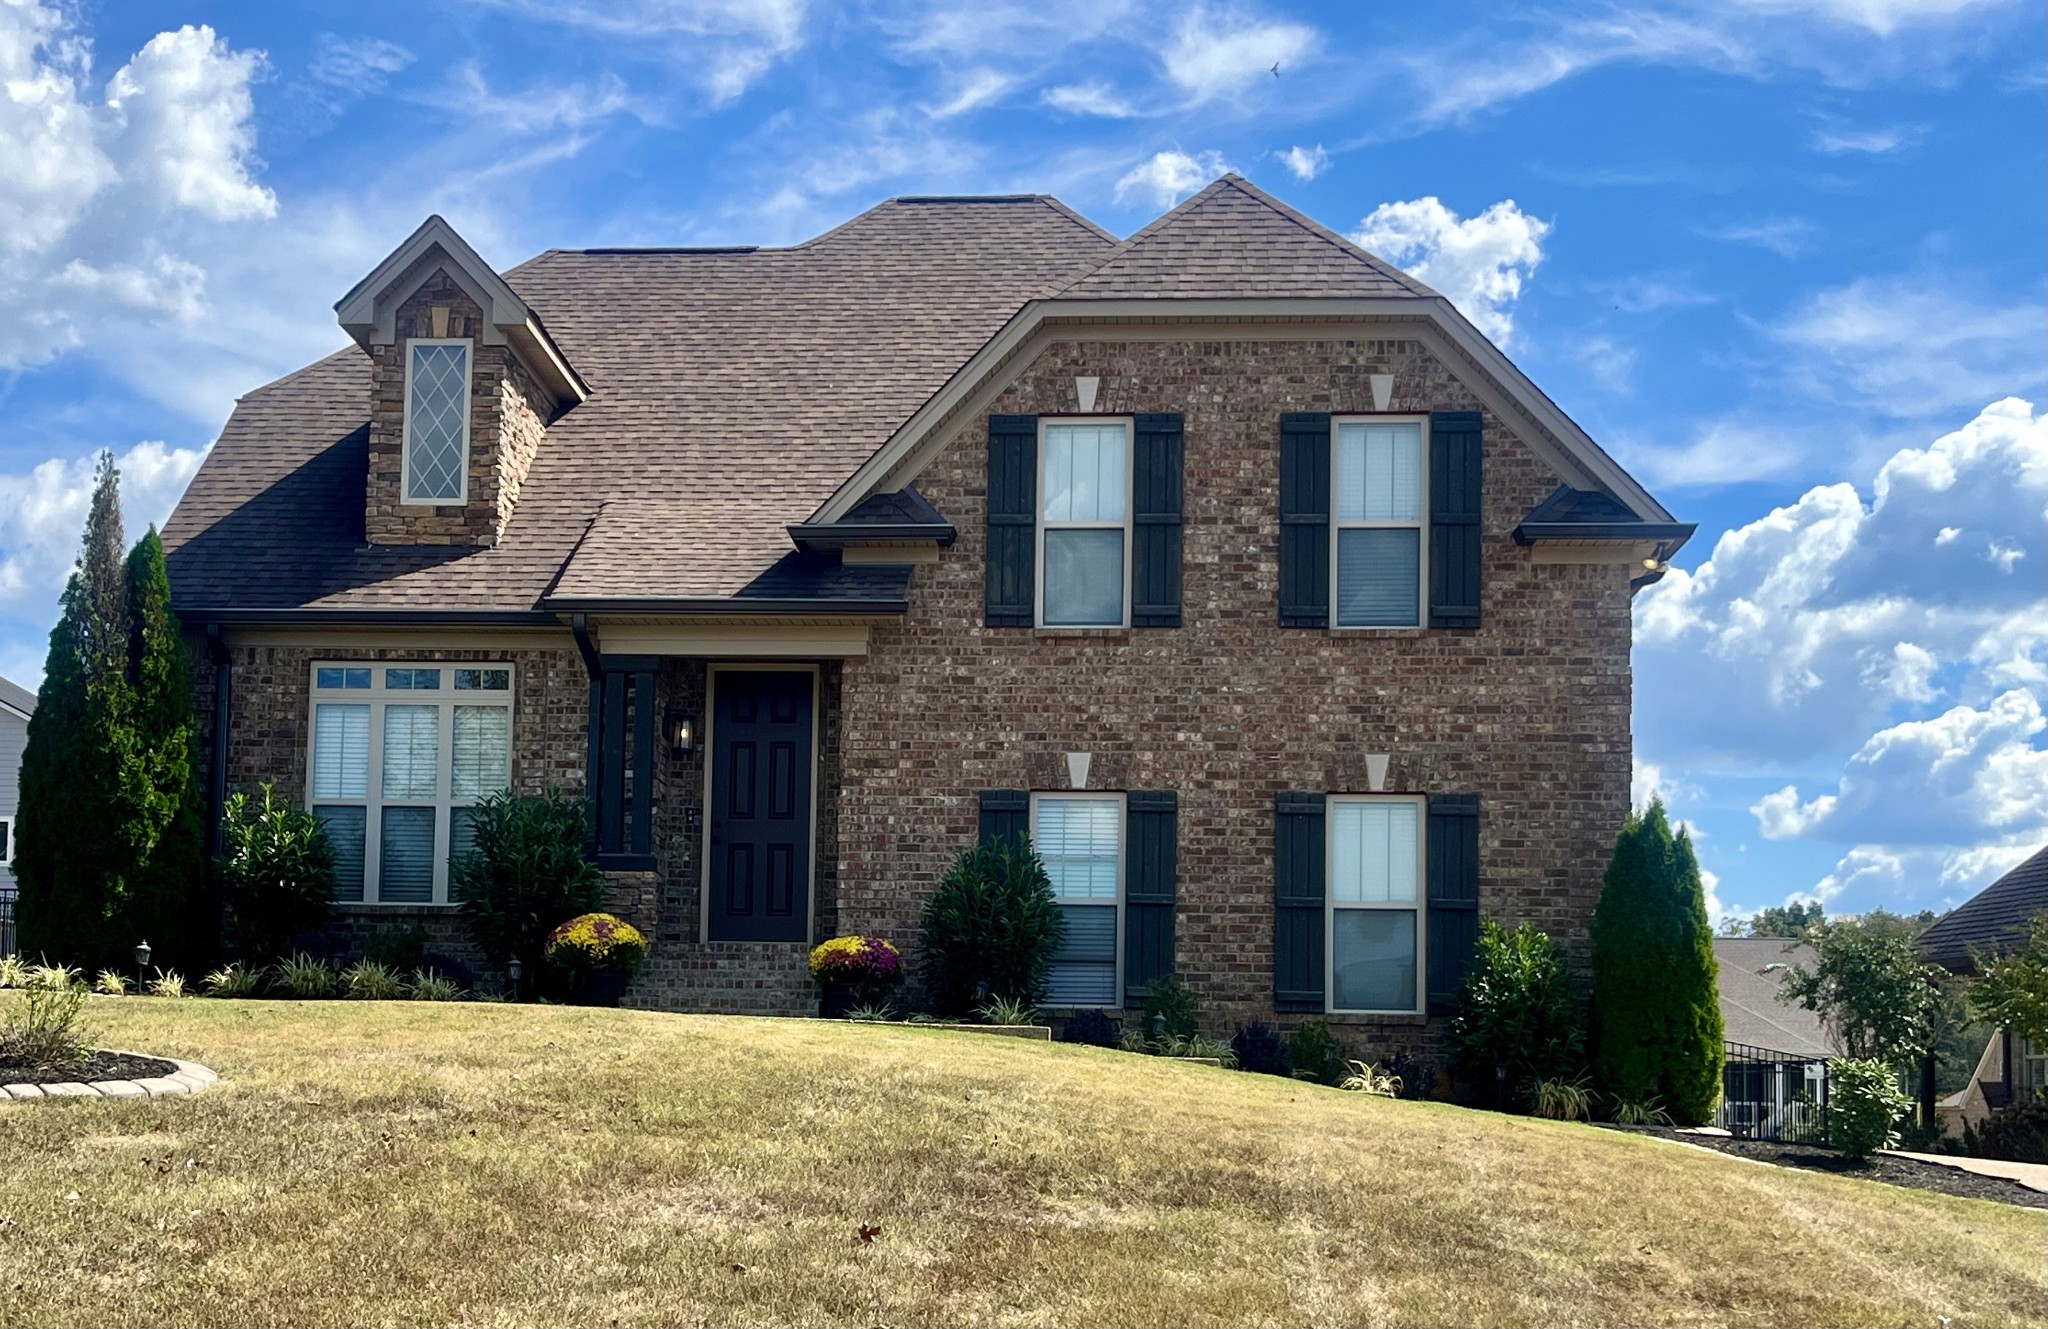
<svg viewBox="0 0 2048 1329"><path fill-rule="evenodd" d="M1450 1020L1458 1073L1473 1085L1499 1085L1505 1067L1505 1083L1520 1091L1577 1073L1583 1046L1565 952L1530 924L1509 932L1485 919Z"/></svg>

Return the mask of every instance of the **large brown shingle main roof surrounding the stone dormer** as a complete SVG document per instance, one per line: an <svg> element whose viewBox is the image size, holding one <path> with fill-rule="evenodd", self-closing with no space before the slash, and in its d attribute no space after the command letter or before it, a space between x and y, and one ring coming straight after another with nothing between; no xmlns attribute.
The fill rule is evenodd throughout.
<svg viewBox="0 0 2048 1329"><path fill-rule="evenodd" d="M369 356L348 348L236 408L164 530L178 604L526 610L557 573L580 596L727 594L1010 315L1112 246L1014 197L897 199L786 250L551 250L506 278L590 399L549 426L496 549L365 547ZM664 553L625 557L635 539ZM590 563L565 569L580 541Z"/></svg>

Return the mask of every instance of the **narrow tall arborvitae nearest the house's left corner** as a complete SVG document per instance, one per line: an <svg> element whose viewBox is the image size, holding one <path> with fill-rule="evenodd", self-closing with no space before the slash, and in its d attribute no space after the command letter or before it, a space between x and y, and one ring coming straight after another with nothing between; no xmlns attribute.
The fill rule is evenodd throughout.
<svg viewBox="0 0 2048 1329"><path fill-rule="evenodd" d="M127 610L133 706L123 792L125 838L135 854L129 921L166 964L190 973L213 958L217 919L205 897L190 663L170 612L170 571L154 526L129 553Z"/></svg>

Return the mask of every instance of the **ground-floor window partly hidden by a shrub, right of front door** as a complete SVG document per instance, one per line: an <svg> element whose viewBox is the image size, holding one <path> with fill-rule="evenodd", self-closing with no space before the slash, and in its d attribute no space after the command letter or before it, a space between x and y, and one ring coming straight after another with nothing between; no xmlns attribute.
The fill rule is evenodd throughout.
<svg viewBox="0 0 2048 1329"><path fill-rule="evenodd" d="M1032 795L1030 840L1067 919L1047 1003L1120 1005L1124 801L1116 795Z"/></svg>

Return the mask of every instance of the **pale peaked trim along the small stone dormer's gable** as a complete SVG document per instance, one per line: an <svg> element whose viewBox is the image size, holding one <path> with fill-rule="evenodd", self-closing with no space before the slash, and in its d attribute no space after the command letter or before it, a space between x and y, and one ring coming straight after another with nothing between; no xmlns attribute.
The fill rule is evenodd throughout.
<svg viewBox="0 0 2048 1329"><path fill-rule="evenodd" d="M483 342L510 346L561 408L590 395L526 301L438 215L336 301L334 315L356 344L389 346L397 340L397 307L434 272L446 272L483 309Z"/></svg>

